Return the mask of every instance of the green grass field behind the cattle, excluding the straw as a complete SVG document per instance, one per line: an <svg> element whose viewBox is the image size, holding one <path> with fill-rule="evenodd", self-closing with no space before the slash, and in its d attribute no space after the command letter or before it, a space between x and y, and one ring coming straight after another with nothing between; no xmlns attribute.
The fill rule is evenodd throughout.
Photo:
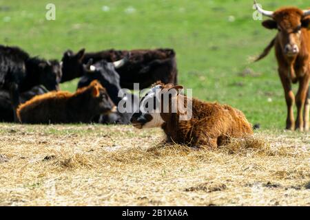
<svg viewBox="0 0 310 220"><path fill-rule="evenodd" d="M50 2L56 5L56 21L45 19ZM260 3L275 10L292 2ZM302 0L293 4L307 8ZM252 19L251 0L0 0L0 5L2 44L57 59L67 49L82 47L172 47L179 83L194 89L194 96L231 104L263 129L284 128L285 100L273 53L260 63L248 62L275 34ZM76 82L65 83L62 89L74 91Z"/></svg>

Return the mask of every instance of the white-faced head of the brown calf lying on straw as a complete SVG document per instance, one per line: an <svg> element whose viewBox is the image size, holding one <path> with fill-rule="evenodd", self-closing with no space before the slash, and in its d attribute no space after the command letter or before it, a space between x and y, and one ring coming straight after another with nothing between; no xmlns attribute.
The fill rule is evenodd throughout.
<svg viewBox="0 0 310 220"><path fill-rule="evenodd" d="M138 129L160 127L172 113L172 98L178 95L182 86L157 83L141 98L139 111L132 115L130 122ZM168 109L167 109L168 107ZM167 111L165 111L167 110Z"/></svg>

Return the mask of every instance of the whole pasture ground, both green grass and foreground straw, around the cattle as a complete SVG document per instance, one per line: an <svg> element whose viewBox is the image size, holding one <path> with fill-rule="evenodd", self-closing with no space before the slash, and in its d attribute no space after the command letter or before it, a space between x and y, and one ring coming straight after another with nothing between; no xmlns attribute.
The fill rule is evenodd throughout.
<svg viewBox="0 0 310 220"><path fill-rule="evenodd" d="M45 5L56 5L56 21ZM307 1L260 0L265 8ZM88 51L172 47L179 82L231 104L262 128L216 151L161 144L159 129L0 124L0 205L310 205L310 134L285 132L275 32L252 1L0 0L0 43L60 59ZM76 80L61 85L74 91ZM295 88L296 89L296 88Z"/></svg>

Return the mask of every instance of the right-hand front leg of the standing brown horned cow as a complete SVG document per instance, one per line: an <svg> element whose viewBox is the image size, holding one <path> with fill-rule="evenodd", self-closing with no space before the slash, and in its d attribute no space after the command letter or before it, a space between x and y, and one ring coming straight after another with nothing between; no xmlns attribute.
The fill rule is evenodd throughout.
<svg viewBox="0 0 310 220"><path fill-rule="evenodd" d="M307 92L309 89L309 76L304 76L299 80L299 88L296 94L297 117L295 129L304 131L304 117L302 117L302 109L306 104Z"/></svg>

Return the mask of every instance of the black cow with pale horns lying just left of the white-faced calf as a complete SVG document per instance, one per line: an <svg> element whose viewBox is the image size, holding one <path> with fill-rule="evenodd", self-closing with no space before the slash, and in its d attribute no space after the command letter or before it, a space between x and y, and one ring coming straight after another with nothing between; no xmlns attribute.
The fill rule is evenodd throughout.
<svg viewBox="0 0 310 220"><path fill-rule="evenodd" d="M84 65L84 74L79 81L78 88L87 87L93 80L99 80L107 90L111 100L118 111L107 115L101 115L98 121L103 124L129 124L130 117L138 109L138 97L130 91L124 91L120 86L120 77L115 70L115 65L122 65L124 59L114 63L99 61L94 65ZM127 106L130 104L130 106ZM125 108L127 107L127 110ZM122 109L120 109L122 108Z"/></svg>

